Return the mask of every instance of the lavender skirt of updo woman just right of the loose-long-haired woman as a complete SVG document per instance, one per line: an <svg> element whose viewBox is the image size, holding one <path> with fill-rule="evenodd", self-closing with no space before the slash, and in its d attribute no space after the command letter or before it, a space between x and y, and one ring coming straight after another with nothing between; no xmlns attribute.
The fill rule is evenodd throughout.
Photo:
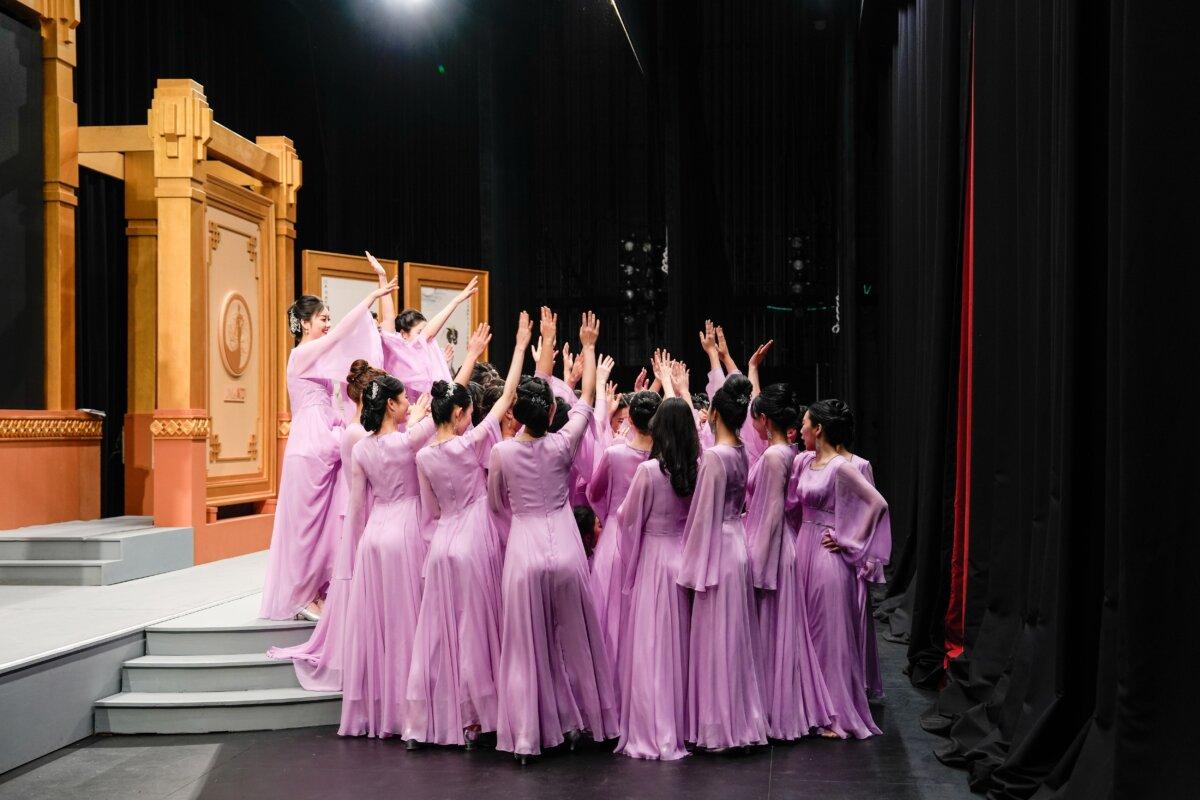
<svg viewBox="0 0 1200 800"><path fill-rule="evenodd" d="M707 750L767 744L758 622L742 524L721 533L718 583L695 593L688 670L688 740Z"/></svg>

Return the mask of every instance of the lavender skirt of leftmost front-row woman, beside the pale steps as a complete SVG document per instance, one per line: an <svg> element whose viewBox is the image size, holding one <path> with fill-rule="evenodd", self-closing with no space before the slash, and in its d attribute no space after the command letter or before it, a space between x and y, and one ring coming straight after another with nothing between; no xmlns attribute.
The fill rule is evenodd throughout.
<svg viewBox="0 0 1200 800"><path fill-rule="evenodd" d="M376 501L359 542L346 609L343 736L403 732L404 693L428 546L418 497Z"/></svg>

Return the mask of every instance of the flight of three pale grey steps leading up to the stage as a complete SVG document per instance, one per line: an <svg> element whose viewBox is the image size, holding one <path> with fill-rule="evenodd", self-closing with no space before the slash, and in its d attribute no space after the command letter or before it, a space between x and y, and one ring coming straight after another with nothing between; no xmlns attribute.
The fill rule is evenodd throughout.
<svg viewBox="0 0 1200 800"><path fill-rule="evenodd" d="M145 630L146 654L126 661L119 694L96 703L106 733L216 733L337 724L342 696L300 688L272 645L302 644L313 622L257 619L250 595Z"/></svg>

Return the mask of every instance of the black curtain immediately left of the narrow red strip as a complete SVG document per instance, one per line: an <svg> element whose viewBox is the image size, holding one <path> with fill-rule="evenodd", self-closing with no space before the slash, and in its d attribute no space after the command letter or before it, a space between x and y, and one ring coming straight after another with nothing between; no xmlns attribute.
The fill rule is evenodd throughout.
<svg viewBox="0 0 1200 800"><path fill-rule="evenodd" d="M859 29L854 393L895 537L877 616L930 688L953 543L970 18L970 4L881 2Z"/></svg>

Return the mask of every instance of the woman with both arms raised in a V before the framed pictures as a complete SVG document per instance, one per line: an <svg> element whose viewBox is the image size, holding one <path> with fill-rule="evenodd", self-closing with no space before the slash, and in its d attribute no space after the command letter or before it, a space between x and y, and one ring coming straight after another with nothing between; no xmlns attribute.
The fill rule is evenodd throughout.
<svg viewBox="0 0 1200 800"><path fill-rule="evenodd" d="M367 253L371 266L379 281L386 279L383 265ZM391 315L391 295L384 301L379 336L383 338L383 368L404 384L409 401L415 401L430 391L434 380L450 381L450 366L438 347L438 333L450 319L450 314L479 291L479 278L473 277L467 287L446 303L445 308L426 320L416 308L406 308L395 318Z"/></svg>

